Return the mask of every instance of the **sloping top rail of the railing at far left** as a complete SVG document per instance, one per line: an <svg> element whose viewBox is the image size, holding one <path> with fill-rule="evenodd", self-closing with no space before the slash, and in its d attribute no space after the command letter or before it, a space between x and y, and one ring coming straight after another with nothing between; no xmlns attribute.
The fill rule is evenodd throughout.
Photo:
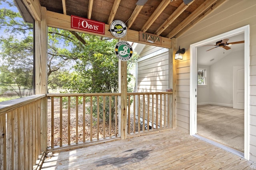
<svg viewBox="0 0 256 170"><path fill-rule="evenodd" d="M31 102L44 98L45 96L46 96L45 94L38 94L38 95L27 96L24 98L18 98L18 99L5 101L5 102L0 102L0 115L7 113L9 111L12 111L18 107L24 106L26 104L30 104Z"/></svg>

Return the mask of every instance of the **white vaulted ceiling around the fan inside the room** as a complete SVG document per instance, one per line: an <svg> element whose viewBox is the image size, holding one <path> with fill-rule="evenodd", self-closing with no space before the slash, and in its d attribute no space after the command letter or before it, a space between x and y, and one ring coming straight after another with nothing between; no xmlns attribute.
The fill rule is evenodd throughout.
<svg viewBox="0 0 256 170"><path fill-rule="evenodd" d="M235 35L232 37L225 37L225 39L229 39L228 43L235 42L235 41L243 41L244 33ZM207 45L216 45L216 42L211 42ZM216 47L210 51L207 51L208 49L211 49L212 47L214 47L214 46L202 46L202 47L197 48L197 64L198 65L210 66L231 53L244 50L244 43L233 44L233 45L229 46L229 47L231 47L231 49L229 49L229 50L225 50L222 47ZM212 59L214 59L214 60L212 60Z"/></svg>

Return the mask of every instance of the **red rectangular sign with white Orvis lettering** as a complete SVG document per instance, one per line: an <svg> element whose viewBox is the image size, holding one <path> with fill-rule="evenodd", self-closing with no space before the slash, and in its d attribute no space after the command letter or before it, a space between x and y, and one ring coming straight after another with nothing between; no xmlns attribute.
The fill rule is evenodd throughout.
<svg viewBox="0 0 256 170"><path fill-rule="evenodd" d="M78 16L71 16L71 28L105 34L105 23Z"/></svg>

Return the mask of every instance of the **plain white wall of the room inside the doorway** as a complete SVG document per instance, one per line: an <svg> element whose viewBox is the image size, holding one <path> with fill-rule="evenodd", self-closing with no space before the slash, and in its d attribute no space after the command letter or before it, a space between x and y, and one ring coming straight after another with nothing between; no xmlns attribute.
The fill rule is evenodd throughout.
<svg viewBox="0 0 256 170"><path fill-rule="evenodd" d="M197 86L197 105L233 107L233 66L244 66L244 50L235 51L206 68L207 86Z"/></svg>

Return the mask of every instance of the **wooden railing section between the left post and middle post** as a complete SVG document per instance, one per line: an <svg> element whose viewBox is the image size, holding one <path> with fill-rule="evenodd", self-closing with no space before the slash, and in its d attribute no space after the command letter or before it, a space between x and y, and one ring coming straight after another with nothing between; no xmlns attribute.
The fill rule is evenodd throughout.
<svg viewBox="0 0 256 170"><path fill-rule="evenodd" d="M118 137L118 96L120 93L47 94L48 150Z"/></svg>

